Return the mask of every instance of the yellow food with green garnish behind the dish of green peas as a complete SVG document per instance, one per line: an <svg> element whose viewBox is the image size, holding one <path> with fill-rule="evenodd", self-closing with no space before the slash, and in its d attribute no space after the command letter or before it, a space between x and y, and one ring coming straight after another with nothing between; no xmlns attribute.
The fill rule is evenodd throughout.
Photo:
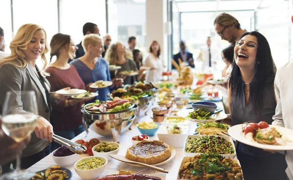
<svg viewBox="0 0 293 180"><path fill-rule="evenodd" d="M206 123L197 123L197 128L195 132L200 135L219 135L228 133L230 125L219 123L219 122L206 122Z"/></svg>

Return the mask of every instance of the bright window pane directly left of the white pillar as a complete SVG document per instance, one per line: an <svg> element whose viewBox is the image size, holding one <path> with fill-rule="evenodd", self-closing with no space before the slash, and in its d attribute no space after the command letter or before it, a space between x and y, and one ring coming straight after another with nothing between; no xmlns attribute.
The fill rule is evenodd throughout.
<svg viewBox="0 0 293 180"><path fill-rule="evenodd" d="M108 0L109 34L112 43L121 41L126 47L130 36L136 37L136 48L146 55L146 0Z"/></svg>

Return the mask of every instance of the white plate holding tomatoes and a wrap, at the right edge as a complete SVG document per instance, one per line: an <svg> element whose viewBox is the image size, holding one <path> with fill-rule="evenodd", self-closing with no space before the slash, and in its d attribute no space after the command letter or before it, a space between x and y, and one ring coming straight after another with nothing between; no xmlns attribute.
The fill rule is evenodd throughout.
<svg viewBox="0 0 293 180"><path fill-rule="evenodd" d="M270 125L270 127L275 127L276 130L282 135L282 139L288 139L291 140L291 142L286 141L286 145L269 145L269 144L261 144L258 142L253 142L249 139L246 139L244 136L244 133L242 132L242 124L234 125L228 129L229 135L239 142L242 142L244 144L257 147L260 149L268 149L268 150L275 150L275 151L281 151L281 150L293 150L293 130L287 129L280 126L274 126Z"/></svg>

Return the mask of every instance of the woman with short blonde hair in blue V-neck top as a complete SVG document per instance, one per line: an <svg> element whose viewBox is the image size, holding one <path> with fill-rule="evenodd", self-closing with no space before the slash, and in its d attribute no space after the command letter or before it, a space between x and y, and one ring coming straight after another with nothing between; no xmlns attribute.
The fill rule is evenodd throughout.
<svg viewBox="0 0 293 180"><path fill-rule="evenodd" d="M102 39L96 34L89 34L84 36L82 42L85 54L79 59L75 59L70 62L77 69L78 74L84 81L84 84L88 84L86 89L95 92L97 89L92 89L89 85L97 80L111 81L109 67L103 58L101 53L104 52ZM122 79L112 80L113 85L98 90L99 96L89 102L95 100L108 100L107 94L110 90L113 90L115 86L121 86Z"/></svg>

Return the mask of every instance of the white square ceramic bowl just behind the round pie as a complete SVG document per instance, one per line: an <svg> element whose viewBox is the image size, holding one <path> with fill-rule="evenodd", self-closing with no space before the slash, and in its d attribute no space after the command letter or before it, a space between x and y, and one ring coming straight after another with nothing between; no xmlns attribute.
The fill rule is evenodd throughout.
<svg viewBox="0 0 293 180"><path fill-rule="evenodd" d="M178 125L180 128L182 128L182 134L168 134L167 126L173 125L174 124L161 125L157 132L158 138L159 140L166 142L168 145L174 148L182 148L187 137L188 125Z"/></svg>

